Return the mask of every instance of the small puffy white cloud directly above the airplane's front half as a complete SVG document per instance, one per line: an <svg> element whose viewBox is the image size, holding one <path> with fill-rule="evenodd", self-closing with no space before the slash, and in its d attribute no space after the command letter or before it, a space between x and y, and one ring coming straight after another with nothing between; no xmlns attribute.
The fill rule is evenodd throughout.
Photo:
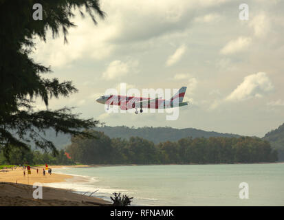
<svg viewBox="0 0 284 220"><path fill-rule="evenodd" d="M109 63L105 72L102 73L102 78L105 80L113 80L127 75L131 69L138 66L138 61L122 62L119 60Z"/></svg>

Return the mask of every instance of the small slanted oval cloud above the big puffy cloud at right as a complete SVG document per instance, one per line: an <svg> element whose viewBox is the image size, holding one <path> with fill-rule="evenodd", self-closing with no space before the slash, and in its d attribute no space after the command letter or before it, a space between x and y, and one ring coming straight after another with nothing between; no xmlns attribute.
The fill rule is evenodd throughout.
<svg viewBox="0 0 284 220"><path fill-rule="evenodd" d="M252 39L250 37L239 36L237 40L229 41L220 51L221 54L234 54L248 47Z"/></svg>

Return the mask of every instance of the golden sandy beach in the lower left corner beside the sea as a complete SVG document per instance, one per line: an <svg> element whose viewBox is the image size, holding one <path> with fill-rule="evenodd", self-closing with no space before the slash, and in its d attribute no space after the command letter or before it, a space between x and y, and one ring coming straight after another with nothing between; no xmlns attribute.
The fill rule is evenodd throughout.
<svg viewBox="0 0 284 220"><path fill-rule="evenodd" d="M50 168L61 168L63 166L50 166ZM67 167L67 166L64 166ZM68 166L70 167L70 166ZM71 166L76 167L76 166ZM77 166L82 167L82 166ZM39 169L39 173L36 172ZM79 195L71 190L51 188L43 186L43 199L33 199L32 188L34 183L54 183L65 181L73 176L45 172L44 167L34 167L28 175L23 168L11 170L0 170L0 206L106 206L108 201L97 197Z"/></svg>

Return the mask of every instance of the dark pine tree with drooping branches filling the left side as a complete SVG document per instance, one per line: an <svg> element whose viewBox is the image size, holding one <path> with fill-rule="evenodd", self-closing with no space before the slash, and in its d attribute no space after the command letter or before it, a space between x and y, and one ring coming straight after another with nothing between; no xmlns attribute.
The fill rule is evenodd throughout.
<svg viewBox="0 0 284 220"><path fill-rule="evenodd" d="M42 5L43 20L34 21L32 17L35 3ZM83 129L98 123L80 119L69 107L34 111L32 106L36 98L41 98L47 107L50 98L67 97L77 91L71 81L43 78L43 74L52 72L50 67L30 58L35 49L34 37L46 41L47 30L54 38L62 30L67 43L68 29L76 26L70 21L74 10L83 17L89 14L94 24L97 16L105 17L98 0L0 0L0 150L4 155L16 146L28 148L27 142L31 141L56 154L54 144L41 135L45 129L91 137Z"/></svg>

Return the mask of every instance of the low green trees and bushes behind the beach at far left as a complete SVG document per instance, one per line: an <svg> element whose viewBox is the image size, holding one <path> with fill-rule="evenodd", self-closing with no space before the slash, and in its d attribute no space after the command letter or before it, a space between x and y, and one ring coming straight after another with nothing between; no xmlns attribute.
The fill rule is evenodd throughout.
<svg viewBox="0 0 284 220"><path fill-rule="evenodd" d="M65 151L61 150L58 155L52 153L41 153L40 151L32 151L30 149L12 148L9 152L8 158L4 157L3 152L0 153L1 164L54 164L54 165L71 165L75 164L72 159L65 155Z"/></svg>

